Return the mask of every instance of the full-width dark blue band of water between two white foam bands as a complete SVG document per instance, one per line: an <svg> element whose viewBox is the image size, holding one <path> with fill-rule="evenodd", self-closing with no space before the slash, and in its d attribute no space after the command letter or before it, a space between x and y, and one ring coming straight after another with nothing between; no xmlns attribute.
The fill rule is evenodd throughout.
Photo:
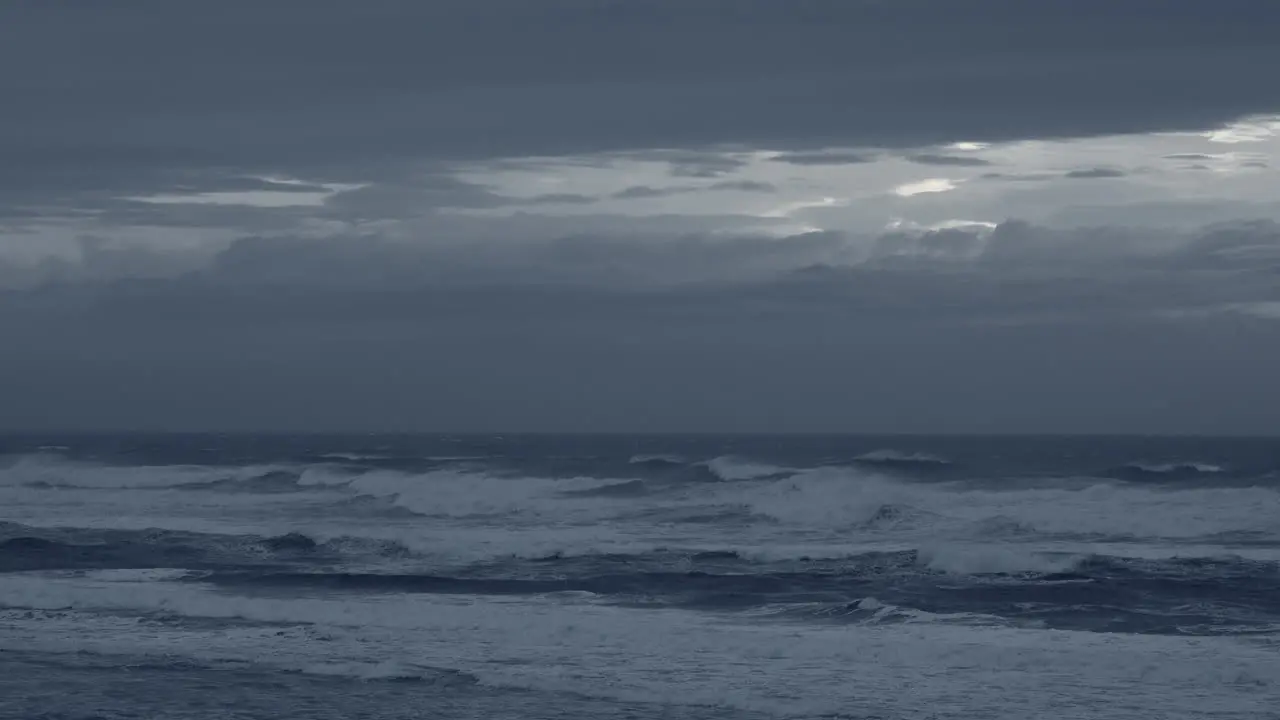
<svg viewBox="0 0 1280 720"><path fill-rule="evenodd" d="M993 547L864 552L762 560L735 551L652 551L494 559L420 570L376 565L351 539L302 534L67 532L5 528L0 570L182 568L188 583L237 592L548 596L575 593L628 607L769 612L822 623L1004 621L1139 634L1221 634L1280 626L1280 565L1239 557L1140 560L1038 553L1012 560ZM26 530L23 533L22 530ZM15 534L15 532L18 534ZM96 542L91 542L96 541ZM996 555L991 557L989 555ZM375 562L370 565L370 562ZM868 598L874 598L869 601Z"/></svg>

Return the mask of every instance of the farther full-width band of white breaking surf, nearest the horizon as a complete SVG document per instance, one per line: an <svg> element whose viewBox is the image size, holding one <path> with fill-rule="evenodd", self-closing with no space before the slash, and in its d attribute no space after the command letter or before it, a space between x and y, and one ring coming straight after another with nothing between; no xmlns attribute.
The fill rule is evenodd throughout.
<svg viewBox="0 0 1280 720"><path fill-rule="evenodd" d="M1248 536L1280 539L1280 488L1275 486L1167 484L1119 479L1041 480L975 484L908 482L851 466L794 469L721 456L687 470L708 478L645 474L641 478L522 477L480 468L442 468L420 473L334 464L285 468L104 466L23 456L0 468L0 502L10 518L47 511L47 523L65 515L61 503L74 489L119 491L81 498L101 509L101 519L81 524L212 529L225 511L242 512L260 500L248 493L279 493L273 503L325 507L325 518L366 524L372 518L407 521L413 515L448 519L457 527L490 524L499 533L545 528L545 537L618 537L643 525L705 525L708 532L750 529L762 544L778 533L855 533L854 539L1042 536L1078 541L1189 539ZM1203 470L1198 470L1203 471ZM732 480L732 482L730 482ZM169 492L204 492L196 501ZM29 492L28 492L29 491ZM125 491L147 491L145 497ZM293 497L287 493L297 493ZM193 497L193 496L192 496ZM109 516L120 509L122 520ZM145 509L143 512L140 509ZM164 518L165 512L189 512ZM197 514L206 514L200 515ZM332 515L328 515L332 512ZM216 515L212 515L216 514ZM308 516L315 518L312 512ZM214 519L210 519L214 518ZM198 521L197 521L198 520ZM206 521L207 520L207 521ZM215 521L216 520L216 521ZM143 525L145 527L145 525ZM255 524L255 532L276 525ZM308 527L314 527L310 524ZM288 532L288 525L280 525ZM582 532L571 533L575 528ZM593 533L586 529L594 528ZM531 532L531 530L530 530ZM832 536L835 537L835 536ZM526 536L527 538L527 536ZM785 542L785 541L783 541ZM486 547L495 547L486 543ZM543 546L545 547L545 546Z"/></svg>

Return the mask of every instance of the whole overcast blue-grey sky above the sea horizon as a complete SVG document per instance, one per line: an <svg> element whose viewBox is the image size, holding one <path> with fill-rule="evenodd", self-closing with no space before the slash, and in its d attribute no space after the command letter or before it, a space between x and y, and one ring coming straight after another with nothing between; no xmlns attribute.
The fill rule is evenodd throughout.
<svg viewBox="0 0 1280 720"><path fill-rule="evenodd" d="M1272 0L0 4L0 428L1280 432Z"/></svg>

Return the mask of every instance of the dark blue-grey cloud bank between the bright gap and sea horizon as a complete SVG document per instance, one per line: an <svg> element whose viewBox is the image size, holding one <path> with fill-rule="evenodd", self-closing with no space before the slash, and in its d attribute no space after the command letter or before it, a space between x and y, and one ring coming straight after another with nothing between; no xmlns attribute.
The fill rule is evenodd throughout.
<svg viewBox="0 0 1280 720"><path fill-rule="evenodd" d="M246 237L200 258L86 241L44 268L41 286L0 295L0 377L22 378L5 386L0 427L1256 433L1280 421L1280 225L1265 222Z"/></svg>

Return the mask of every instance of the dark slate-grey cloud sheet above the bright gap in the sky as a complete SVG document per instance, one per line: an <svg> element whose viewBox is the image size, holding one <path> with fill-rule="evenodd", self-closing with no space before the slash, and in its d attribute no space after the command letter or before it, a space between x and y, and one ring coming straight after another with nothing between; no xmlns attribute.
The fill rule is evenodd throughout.
<svg viewBox="0 0 1280 720"><path fill-rule="evenodd" d="M0 186L1201 128L1280 108L1277 22L1256 0L6 3Z"/></svg>

